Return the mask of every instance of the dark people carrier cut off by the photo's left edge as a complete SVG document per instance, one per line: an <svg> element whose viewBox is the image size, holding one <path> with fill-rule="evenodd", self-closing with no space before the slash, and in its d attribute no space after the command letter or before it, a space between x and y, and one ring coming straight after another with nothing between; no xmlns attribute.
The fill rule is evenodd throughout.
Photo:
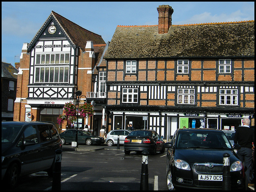
<svg viewBox="0 0 256 192"><path fill-rule="evenodd" d="M51 123L2 121L2 183L12 189L20 176L39 171L52 176L57 149L62 143Z"/></svg>

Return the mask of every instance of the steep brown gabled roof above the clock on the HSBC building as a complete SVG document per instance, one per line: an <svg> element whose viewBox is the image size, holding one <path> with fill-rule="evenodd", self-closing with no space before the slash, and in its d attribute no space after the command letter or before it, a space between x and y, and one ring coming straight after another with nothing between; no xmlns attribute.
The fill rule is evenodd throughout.
<svg viewBox="0 0 256 192"><path fill-rule="evenodd" d="M85 51L86 41L92 41L94 44L106 44L101 35L88 31L87 29L84 29L83 27L52 11L50 16L29 43L28 49L36 43L52 18L54 18L54 20L59 24L60 28L64 31L65 36L69 39L72 45L80 47L82 51Z"/></svg>

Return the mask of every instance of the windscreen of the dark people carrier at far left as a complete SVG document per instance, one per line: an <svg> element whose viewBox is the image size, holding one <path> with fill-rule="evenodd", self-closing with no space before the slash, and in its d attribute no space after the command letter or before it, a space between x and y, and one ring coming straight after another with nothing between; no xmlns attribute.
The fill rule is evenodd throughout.
<svg viewBox="0 0 256 192"><path fill-rule="evenodd" d="M22 125L2 125L2 143L12 143L21 129Z"/></svg>

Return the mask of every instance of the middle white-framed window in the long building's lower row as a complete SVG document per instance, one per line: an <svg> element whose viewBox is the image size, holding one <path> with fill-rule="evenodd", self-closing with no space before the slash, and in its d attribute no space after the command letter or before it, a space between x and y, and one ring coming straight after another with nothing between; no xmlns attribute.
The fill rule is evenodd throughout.
<svg viewBox="0 0 256 192"><path fill-rule="evenodd" d="M177 104L195 104L194 88L178 88Z"/></svg>

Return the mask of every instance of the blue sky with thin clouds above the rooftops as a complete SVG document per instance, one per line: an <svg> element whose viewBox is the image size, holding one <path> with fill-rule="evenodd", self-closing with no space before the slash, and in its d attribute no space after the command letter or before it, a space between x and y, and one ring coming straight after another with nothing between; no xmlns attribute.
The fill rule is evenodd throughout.
<svg viewBox="0 0 256 192"><path fill-rule="evenodd" d="M117 25L157 25L159 5L172 6L172 24L254 20L254 2L2 2L2 61L20 61L52 10L107 42Z"/></svg>

